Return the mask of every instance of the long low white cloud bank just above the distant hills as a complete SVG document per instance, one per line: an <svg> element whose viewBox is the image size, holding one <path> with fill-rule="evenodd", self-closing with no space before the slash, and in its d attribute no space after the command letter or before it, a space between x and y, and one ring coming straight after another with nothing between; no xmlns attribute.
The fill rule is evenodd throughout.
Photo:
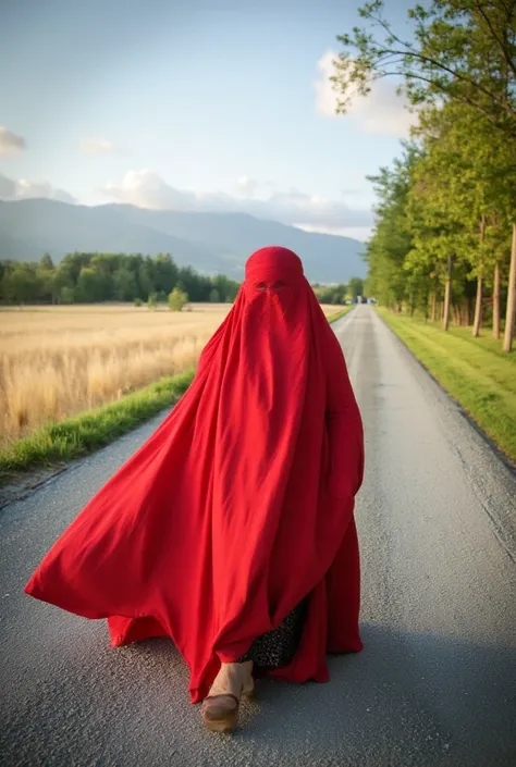
<svg viewBox="0 0 516 767"><path fill-rule="evenodd" d="M245 182L243 181L245 178ZM111 201L155 210L241 212L258 219L311 227L311 231L331 231L345 227L369 227L371 212L353 210L343 200L331 200L308 195L298 189L274 191L258 197L258 190L270 187L243 176L236 184L242 193L232 197L223 191L196 194L172 187L149 170L128 171L119 184L108 184L103 195ZM254 195L254 196L251 196Z"/></svg>

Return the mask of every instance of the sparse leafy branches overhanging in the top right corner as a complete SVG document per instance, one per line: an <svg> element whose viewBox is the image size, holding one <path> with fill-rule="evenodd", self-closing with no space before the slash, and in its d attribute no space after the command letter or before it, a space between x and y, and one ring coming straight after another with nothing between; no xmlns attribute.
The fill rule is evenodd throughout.
<svg viewBox="0 0 516 767"><path fill-rule="evenodd" d="M516 4L509 0L431 0L408 10L411 39L384 16L382 0L359 9L366 27L340 35L333 78L345 112L382 77L403 78L409 102L457 101L516 137Z"/></svg>

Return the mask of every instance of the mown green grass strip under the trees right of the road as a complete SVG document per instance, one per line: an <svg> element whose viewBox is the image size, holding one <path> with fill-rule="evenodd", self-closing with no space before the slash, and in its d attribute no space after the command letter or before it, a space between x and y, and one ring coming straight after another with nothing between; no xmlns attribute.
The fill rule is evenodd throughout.
<svg viewBox="0 0 516 767"><path fill-rule="evenodd" d="M437 323L393 314L380 317L407 345L481 430L516 462L516 354L501 342L474 338L471 329L447 333Z"/></svg>

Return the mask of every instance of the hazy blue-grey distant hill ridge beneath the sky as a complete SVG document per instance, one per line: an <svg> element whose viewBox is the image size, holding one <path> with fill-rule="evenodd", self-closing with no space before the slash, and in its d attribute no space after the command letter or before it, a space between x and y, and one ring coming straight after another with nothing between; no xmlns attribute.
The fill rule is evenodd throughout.
<svg viewBox="0 0 516 767"><path fill-rule="evenodd" d="M59 261L74 250L170 252L181 265L242 279L247 257L266 245L295 250L309 280L346 282L365 276L364 244L351 237L303 232L245 213L184 213L124 205L85 207L47 199L0 202L0 259Z"/></svg>

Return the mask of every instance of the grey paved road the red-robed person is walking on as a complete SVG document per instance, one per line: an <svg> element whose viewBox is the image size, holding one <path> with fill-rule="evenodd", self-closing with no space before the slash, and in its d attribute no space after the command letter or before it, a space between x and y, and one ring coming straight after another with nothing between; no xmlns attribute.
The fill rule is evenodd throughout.
<svg viewBox="0 0 516 767"><path fill-rule="evenodd" d="M516 765L516 479L369 308L336 332L367 433L365 652L327 685L262 682L213 737L171 642L110 650L102 622L23 596L155 421L0 514L2 765Z"/></svg>

